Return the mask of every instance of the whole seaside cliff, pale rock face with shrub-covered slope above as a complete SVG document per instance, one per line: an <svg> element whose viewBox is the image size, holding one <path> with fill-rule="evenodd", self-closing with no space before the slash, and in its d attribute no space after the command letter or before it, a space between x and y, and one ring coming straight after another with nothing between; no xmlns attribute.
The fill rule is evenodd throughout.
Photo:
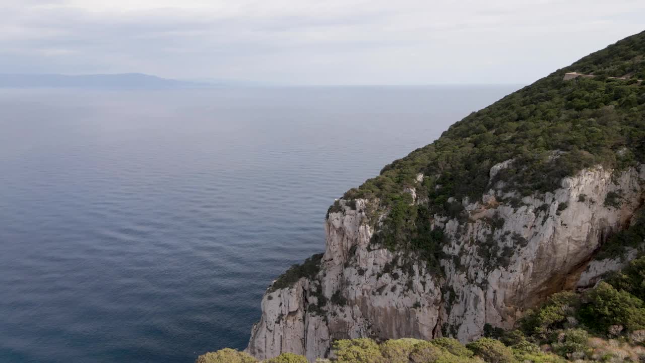
<svg viewBox="0 0 645 363"><path fill-rule="evenodd" d="M348 191L324 254L267 290L247 351L313 361L342 338L470 341L635 258L642 240L611 238L645 196L645 87L629 80L642 54L645 33L591 54ZM626 79L565 82L572 71Z"/></svg>

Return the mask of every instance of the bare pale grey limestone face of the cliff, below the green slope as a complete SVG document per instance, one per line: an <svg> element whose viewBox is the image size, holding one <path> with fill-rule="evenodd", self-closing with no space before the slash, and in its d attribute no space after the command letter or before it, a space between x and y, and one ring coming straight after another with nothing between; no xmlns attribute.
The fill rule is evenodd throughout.
<svg viewBox="0 0 645 363"><path fill-rule="evenodd" d="M511 162L493 166L491 177ZM551 293L593 285L635 256L593 260L611 233L629 225L644 182L643 166L584 169L554 192L524 198L504 194L497 182L481 200L462 201L467 219L433 217L446 236L439 273L413 253L370 243L377 200L356 200L355 207L341 200L342 211L326 219L319 273L268 290L247 351L261 359L291 351L313 361L340 338L466 341L480 337L486 323L510 328ZM605 203L608 195L619 202Z"/></svg>

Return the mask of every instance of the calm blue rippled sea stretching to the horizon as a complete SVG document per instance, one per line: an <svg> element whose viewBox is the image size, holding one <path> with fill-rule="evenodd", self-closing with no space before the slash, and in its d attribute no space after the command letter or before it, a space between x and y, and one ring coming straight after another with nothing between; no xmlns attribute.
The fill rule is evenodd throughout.
<svg viewBox="0 0 645 363"><path fill-rule="evenodd" d="M519 87L0 90L0 362L192 362L333 198Z"/></svg>

